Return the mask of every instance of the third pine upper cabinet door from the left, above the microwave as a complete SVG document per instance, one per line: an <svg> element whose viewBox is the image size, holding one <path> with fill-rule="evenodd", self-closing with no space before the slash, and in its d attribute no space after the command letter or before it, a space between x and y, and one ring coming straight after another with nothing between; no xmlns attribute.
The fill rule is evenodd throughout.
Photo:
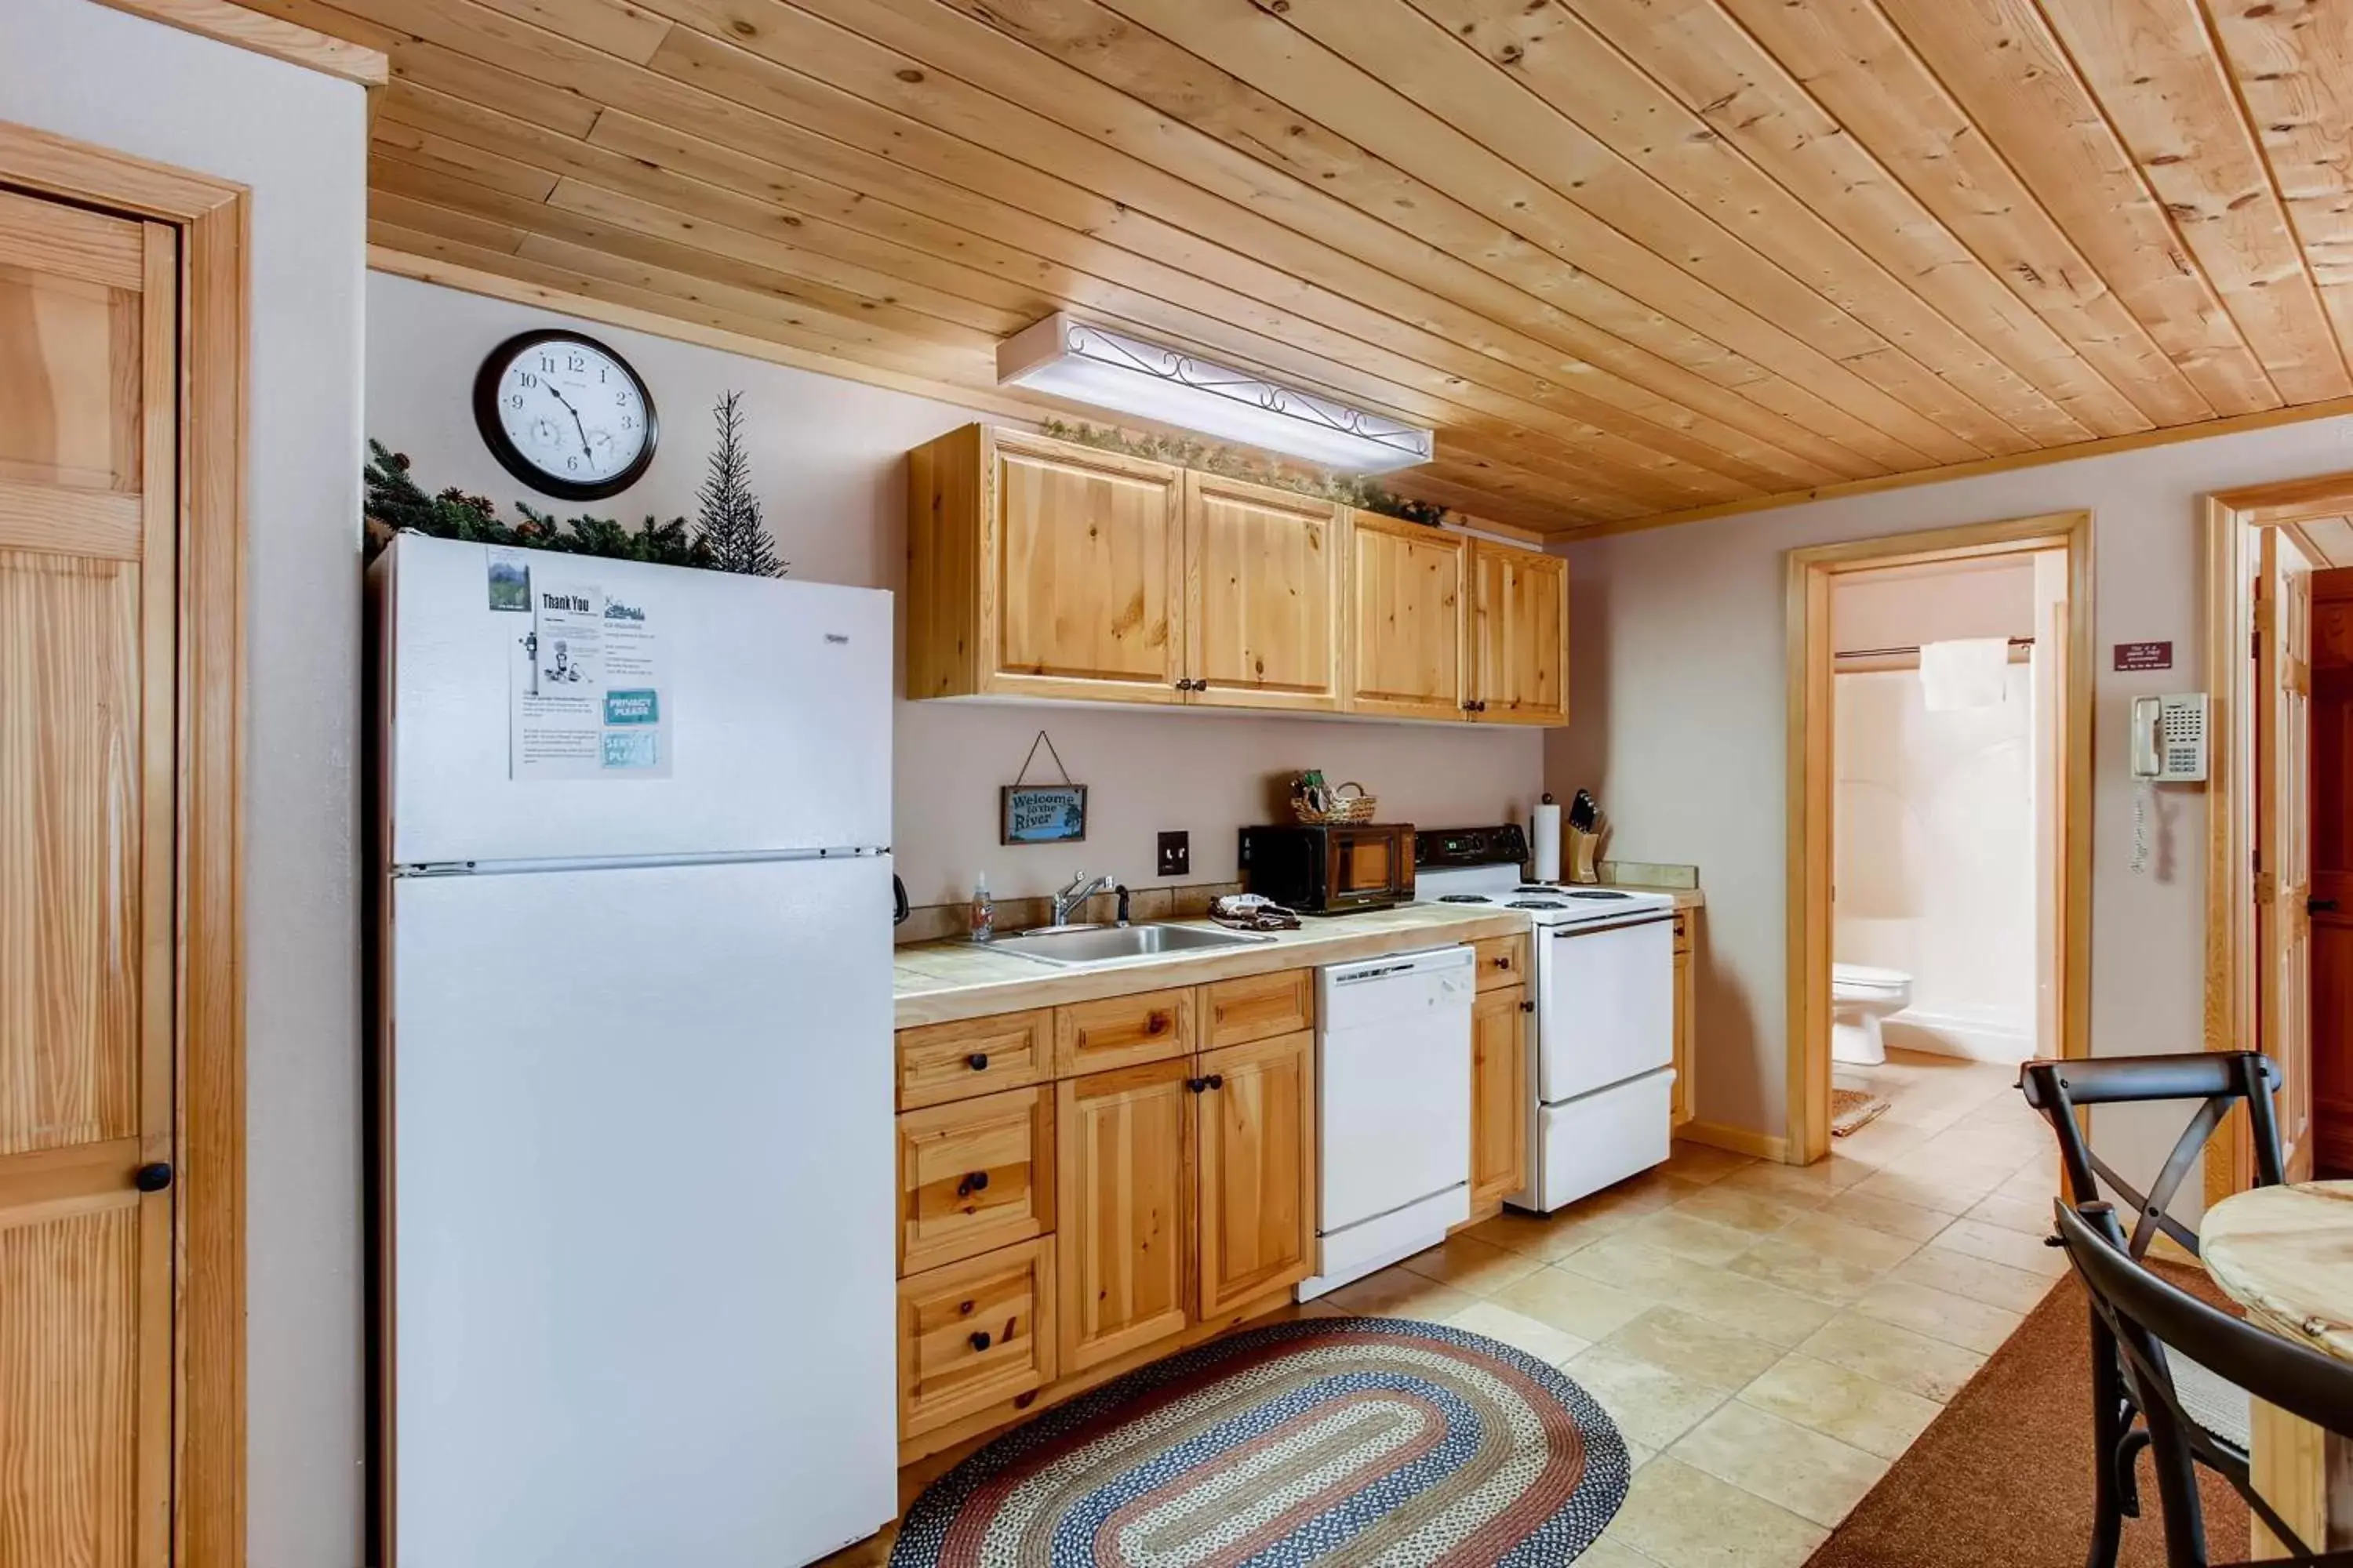
<svg viewBox="0 0 2353 1568"><path fill-rule="evenodd" d="M1348 534L1348 712L1461 719L1468 541L1372 512Z"/></svg>

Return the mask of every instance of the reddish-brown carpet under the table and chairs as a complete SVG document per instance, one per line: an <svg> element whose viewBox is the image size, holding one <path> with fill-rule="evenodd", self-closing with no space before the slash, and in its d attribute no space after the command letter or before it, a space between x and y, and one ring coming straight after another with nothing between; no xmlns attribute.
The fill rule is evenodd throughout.
<svg viewBox="0 0 2353 1568"><path fill-rule="evenodd" d="M2228 1307L2200 1269L2155 1265ZM2247 1505L2200 1469L2214 1561L2247 1556ZM1807 1568L2080 1568L2092 1542L2092 1321L2061 1279L1977 1378L1880 1476ZM2158 1481L2141 1455L2141 1516L2122 1568L2165 1568Z"/></svg>

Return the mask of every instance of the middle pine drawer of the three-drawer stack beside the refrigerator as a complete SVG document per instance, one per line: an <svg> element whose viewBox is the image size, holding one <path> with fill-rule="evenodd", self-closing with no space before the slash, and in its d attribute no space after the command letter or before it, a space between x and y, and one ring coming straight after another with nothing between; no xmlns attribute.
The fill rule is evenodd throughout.
<svg viewBox="0 0 2353 1568"><path fill-rule="evenodd" d="M1054 1229L1054 1091L1014 1088L899 1117L899 1272Z"/></svg>

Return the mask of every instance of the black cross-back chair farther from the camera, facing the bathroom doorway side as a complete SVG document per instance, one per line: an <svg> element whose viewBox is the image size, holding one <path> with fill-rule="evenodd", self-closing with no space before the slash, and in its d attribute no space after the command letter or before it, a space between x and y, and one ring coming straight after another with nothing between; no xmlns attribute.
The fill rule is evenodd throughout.
<svg viewBox="0 0 2353 1568"><path fill-rule="evenodd" d="M2108 1199L2134 1215L2132 1237L2120 1246L2132 1262L2148 1255L2165 1234L2188 1253L2198 1253L2198 1232L2167 1213L2181 1180L2198 1168L2214 1128L2233 1105L2247 1107L2247 1131L2254 1145L2254 1182L2273 1187L2285 1180L2280 1168L2280 1128L2271 1095L2280 1088L2280 1067L2261 1051L2181 1051L2172 1056L2104 1056L2071 1060L2033 1060L2019 1067L2019 1093L2042 1112L2059 1138L2068 1190L2078 1204ZM2188 1126L2174 1140L2158 1178L2141 1192L2115 1166L2092 1152L2075 1110L2082 1105L2162 1105L2195 1103ZM2106 1185L2106 1190L2104 1190ZM2059 1237L2052 1237L2052 1246ZM2179 1354L2172 1359L2172 1382L2191 1420L2235 1453L2247 1448L2247 1392ZM2087 1568L2113 1568L2125 1519L2139 1519L2141 1490L2134 1460L2151 1443L2132 1378L2108 1321L2092 1312L2092 1443L2097 1474L2092 1486L2092 1547Z"/></svg>

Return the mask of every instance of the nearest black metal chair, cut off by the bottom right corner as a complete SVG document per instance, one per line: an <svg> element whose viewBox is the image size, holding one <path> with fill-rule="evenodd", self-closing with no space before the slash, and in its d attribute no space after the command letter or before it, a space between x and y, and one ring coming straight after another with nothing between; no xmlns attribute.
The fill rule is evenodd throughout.
<svg viewBox="0 0 2353 1568"><path fill-rule="evenodd" d="M2188 1403L2184 1366L2217 1375L2325 1432L2353 1434L2353 1366L2297 1345L2202 1300L2144 1267L2125 1248L2108 1204L2068 1208L2054 1201L2059 1241L2092 1295L2092 1312L2120 1352L2125 1382L2148 1422L2158 1495L2165 1505L2169 1568L2207 1568L2198 1465L2214 1469L2247 1500L2292 1556L2245 1568L2353 1568L2353 1552L2304 1542L2254 1488L2247 1443L2217 1434ZM2322 1542L2325 1547L2325 1542Z"/></svg>

